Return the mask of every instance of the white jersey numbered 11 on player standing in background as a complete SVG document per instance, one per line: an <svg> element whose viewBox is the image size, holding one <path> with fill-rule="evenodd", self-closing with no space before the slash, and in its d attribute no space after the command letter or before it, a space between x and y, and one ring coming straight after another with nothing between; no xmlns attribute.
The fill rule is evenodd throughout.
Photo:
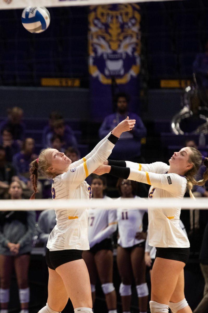
<svg viewBox="0 0 208 313"><path fill-rule="evenodd" d="M144 201L144 199L135 196L138 201ZM122 201L122 198L118 198ZM145 205L145 203L144 203ZM144 239L136 239L136 233L143 231L143 216L145 210L129 210L129 209L117 209L117 221L119 230L118 244L123 248L133 247L135 244L140 244Z"/></svg>

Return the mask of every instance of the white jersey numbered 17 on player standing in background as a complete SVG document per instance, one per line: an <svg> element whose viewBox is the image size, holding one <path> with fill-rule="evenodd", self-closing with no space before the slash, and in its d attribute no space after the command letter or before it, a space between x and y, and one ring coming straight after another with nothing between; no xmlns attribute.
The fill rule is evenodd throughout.
<svg viewBox="0 0 208 313"><path fill-rule="evenodd" d="M110 199L104 196L104 199ZM110 238L117 228L116 210L90 208L88 223L88 239L90 248L106 238Z"/></svg>

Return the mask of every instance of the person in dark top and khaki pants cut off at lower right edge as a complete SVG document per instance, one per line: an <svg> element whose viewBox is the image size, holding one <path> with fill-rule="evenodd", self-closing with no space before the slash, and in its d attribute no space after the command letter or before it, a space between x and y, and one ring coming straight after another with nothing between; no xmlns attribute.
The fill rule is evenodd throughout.
<svg viewBox="0 0 208 313"><path fill-rule="evenodd" d="M205 280L205 286L204 286L203 299L198 304L198 306L193 311L193 313L207 313L208 312L208 223L204 231L199 259L200 259L201 272Z"/></svg>

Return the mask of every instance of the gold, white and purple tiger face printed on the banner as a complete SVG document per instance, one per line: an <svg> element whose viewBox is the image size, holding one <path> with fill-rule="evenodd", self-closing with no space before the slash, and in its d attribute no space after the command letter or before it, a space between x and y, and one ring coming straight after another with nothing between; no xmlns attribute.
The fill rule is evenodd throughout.
<svg viewBox="0 0 208 313"><path fill-rule="evenodd" d="M140 7L137 4L91 6L89 72L102 84L126 84L140 70Z"/></svg>

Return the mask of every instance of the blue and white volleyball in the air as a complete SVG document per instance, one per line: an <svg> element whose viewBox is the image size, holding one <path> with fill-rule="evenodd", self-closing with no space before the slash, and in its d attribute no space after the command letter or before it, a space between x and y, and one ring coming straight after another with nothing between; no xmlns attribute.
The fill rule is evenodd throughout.
<svg viewBox="0 0 208 313"><path fill-rule="evenodd" d="M50 20L50 13L45 7L27 7L22 12L22 25L30 33L44 32Z"/></svg>

